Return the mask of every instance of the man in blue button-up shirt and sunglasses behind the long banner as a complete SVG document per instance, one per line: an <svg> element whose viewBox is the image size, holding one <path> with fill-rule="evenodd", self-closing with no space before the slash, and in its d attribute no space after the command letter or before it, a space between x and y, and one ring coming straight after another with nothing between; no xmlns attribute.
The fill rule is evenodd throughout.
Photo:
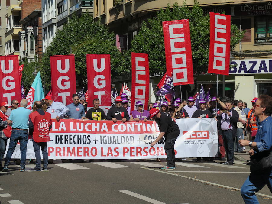
<svg viewBox="0 0 272 204"><path fill-rule="evenodd" d="M75 93L73 94L73 103L66 105L66 107L69 109L68 111L68 117L70 119L84 119L85 118L85 110L84 106L79 103L79 97Z"/></svg>

